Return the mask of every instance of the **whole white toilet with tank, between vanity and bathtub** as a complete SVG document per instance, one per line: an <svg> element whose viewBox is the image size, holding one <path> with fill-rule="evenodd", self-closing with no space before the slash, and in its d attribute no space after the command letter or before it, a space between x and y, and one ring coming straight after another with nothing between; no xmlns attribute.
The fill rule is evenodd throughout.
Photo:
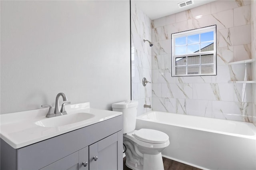
<svg viewBox="0 0 256 170"><path fill-rule="evenodd" d="M123 113L123 143L126 166L133 170L164 170L162 150L169 142L164 132L142 128L135 130L138 101L112 104L113 111Z"/></svg>

